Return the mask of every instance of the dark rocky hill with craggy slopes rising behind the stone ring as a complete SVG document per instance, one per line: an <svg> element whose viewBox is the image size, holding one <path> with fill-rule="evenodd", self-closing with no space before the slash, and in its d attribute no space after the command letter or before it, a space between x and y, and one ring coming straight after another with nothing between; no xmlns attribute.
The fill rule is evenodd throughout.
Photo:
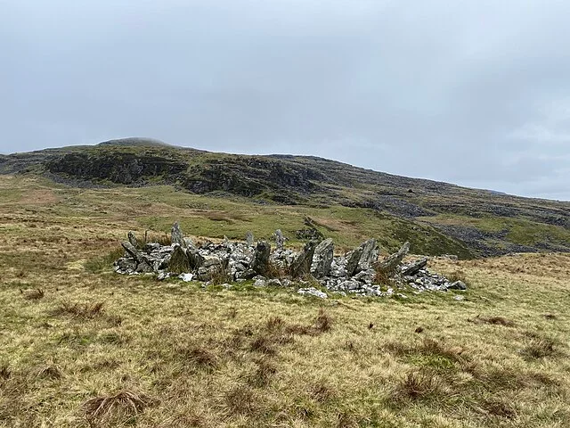
<svg viewBox="0 0 570 428"><path fill-rule="evenodd" d="M379 232L389 235L388 245L410 240L412 249L427 254L570 251L570 202L399 177L316 157L204 152L128 138L0 157L0 174L15 173L79 187L171 185L248 206L346 207L384 224ZM338 225L326 224L335 222L330 215L313 226L334 233ZM343 226L362 227L359 216L346 218Z"/></svg>

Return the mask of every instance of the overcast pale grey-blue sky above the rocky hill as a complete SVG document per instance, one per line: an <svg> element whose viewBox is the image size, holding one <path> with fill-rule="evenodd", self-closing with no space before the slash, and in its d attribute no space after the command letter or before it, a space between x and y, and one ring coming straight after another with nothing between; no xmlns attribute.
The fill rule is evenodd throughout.
<svg viewBox="0 0 570 428"><path fill-rule="evenodd" d="M0 152L149 136L570 201L566 0L0 0Z"/></svg>

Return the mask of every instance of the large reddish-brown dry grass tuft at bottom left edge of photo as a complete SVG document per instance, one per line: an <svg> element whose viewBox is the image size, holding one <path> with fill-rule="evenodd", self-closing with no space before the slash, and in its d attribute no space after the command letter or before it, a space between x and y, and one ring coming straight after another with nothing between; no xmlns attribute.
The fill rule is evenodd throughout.
<svg viewBox="0 0 570 428"><path fill-rule="evenodd" d="M140 415L145 408L156 404L156 399L151 399L144 394L132 391L118 391L115 395L100 396L88 399L83 404L85 419L91 426L109 424L118 426L126 424L134 416Z"/></svg>

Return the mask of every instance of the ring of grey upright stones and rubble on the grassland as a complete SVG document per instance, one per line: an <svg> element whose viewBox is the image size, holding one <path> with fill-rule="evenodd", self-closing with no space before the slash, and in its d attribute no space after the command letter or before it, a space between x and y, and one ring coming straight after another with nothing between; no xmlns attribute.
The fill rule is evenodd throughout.
<svg viewBox="0 0 570 428"><path fill-rule="evenodd" d="M282 239L282 235L279 240ZM170 245L145 243L136 247L138 240L129 233L122 243L125 257L118 259L115 270L119 274L154 273L159 279L179 276L184 281L212 282L223 278L226 283L254 279L256 286L303 284L309 277L330 292L386 296L395 289L407 287L416 292L465 290L461 282L452 283L444 276L427 270L428 259L403 264L410 250L404 243L400 251L378 260L376 240L368 240L344 255L334 255L332 239L321 243L311 241L300 252L277 247L273 252L265 241L204 243L196 247L177 223L172 227ZM276 277L277 276L277 277ZM314 288L314 287L313 287ZM322 296L322 291L305 288L302 293ZM308 291L307 291L308 290Z"/></svg>

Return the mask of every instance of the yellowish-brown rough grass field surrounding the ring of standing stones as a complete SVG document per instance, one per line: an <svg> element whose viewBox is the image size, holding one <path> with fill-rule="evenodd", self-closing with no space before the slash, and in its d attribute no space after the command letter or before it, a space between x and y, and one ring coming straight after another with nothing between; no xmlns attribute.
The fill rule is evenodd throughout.
<svg viewBox="0 0 570 428"><path fill-rule="evenodd" d="M570 426L570 255L432 259L468 292L329 300L118 276L105 257L176 219L240 238L305 215L341 249L399 243L368 210L0 176L0 426Z"/></svg>

